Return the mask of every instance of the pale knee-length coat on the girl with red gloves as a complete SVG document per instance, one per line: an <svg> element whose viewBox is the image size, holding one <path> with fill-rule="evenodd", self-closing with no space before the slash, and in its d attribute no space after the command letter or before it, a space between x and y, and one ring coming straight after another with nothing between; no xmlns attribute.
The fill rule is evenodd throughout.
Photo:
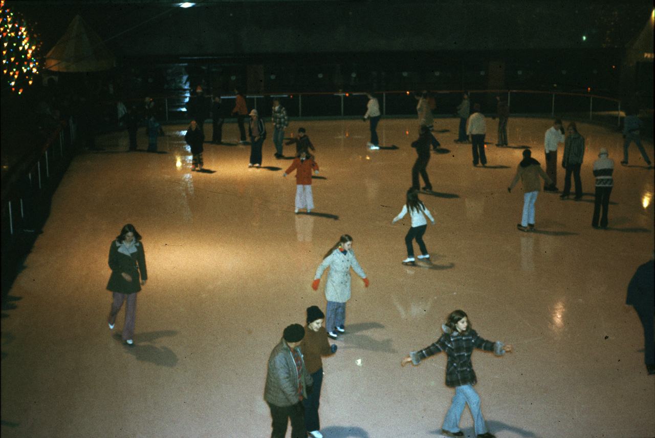
<svg viewBox="0 0 655 438"><path fill-rule="evenodd" d="M349 249L343 254L338 248L332 251L323 262L318 265L314 280L320 279L329 267L326 280L326 299L327 301L345 303L350 300L350 267L362 278L366 278L364 270L355 258L355 253Z"/></svg>

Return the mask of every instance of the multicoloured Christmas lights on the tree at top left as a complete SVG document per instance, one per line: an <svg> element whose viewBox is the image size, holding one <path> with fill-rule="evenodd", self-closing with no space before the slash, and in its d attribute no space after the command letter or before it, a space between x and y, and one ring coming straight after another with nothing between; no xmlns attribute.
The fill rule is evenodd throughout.
<svg viewBox="0 0 655 438"><path fill-rule="evenodd" d="M41 42L29 29L26 20L11 12L5 3L5 0L0 1L3 79L12 91L21 94L26 84L31 85L39 73L37 54Z"/></svg>

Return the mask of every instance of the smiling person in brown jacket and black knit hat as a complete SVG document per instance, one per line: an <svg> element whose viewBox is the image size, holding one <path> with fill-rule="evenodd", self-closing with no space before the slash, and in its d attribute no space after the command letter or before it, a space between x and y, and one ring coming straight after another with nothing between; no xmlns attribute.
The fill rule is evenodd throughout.
<svg viewBox="0 0 655 438"><path fill-rule="evenodd" d="M318 418L318 405L323 384L323 360L321 356L331 356L337 352L337 345L330 345L327 341L327 330L323 327L326 315L318 306L307 308L307 325L305 325L305 338L300 348L303 351L305 367L314 381L314 390L307 394L305 399L305 428L313 438L323 438L320 433L320 420Z"/></svg>

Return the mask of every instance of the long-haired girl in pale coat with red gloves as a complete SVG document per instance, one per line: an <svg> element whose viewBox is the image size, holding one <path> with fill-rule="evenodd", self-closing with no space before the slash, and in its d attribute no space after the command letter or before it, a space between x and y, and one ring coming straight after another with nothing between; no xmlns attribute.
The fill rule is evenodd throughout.
<svg viewBox="0 0 655 438"><path fill-rule="evenodd" d="M337 332L345 332L346 321L346 302L350 300L350 268L362 277L364 286L369 286L369 279L364 273L364 269L355 258L352 250L352 237L347 234L342 235L339 241L327 251L323 257L323 262L316 269L312 289L318 290L318 283L321 281L321 275L329 268L326 280L326 329L327 335L332 339L337 339Z"/></svg>

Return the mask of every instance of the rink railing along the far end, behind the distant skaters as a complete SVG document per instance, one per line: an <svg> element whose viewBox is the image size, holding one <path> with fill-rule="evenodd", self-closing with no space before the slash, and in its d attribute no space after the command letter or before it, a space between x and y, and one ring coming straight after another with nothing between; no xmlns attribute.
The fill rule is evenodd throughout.
<svg viewBox="0 0 655 438"><path fill-rule="evenodd" d="M464 90L433 90L436 108L432 113L436 117L453 115L455 108L462 100ZM615 98L599 96L590 92L560 92L534 90L468 90L472 104L479 103L483 113L492 114L496 111L495 96L505 94L510 104L510 112L514 114L550 113L551 117L589 117L589 121L599 119L605 123L615 119L620 126L622 112L621 102ZM409 116L416 114L416 100L409 91L378 92L380 109L383 115ZM221 96L223 117L230 117L234 108L234 95ZM367 97L364 92L311 92L311 93L259 93L247 94L248 109L257 109L263 117L270 117L272 100L279 98L290 117L362 117L366 111ZM187 119L185 96L153 97L159 106L160 121L178 121ZM139 101L131 101L139 102Z"/></svg>

